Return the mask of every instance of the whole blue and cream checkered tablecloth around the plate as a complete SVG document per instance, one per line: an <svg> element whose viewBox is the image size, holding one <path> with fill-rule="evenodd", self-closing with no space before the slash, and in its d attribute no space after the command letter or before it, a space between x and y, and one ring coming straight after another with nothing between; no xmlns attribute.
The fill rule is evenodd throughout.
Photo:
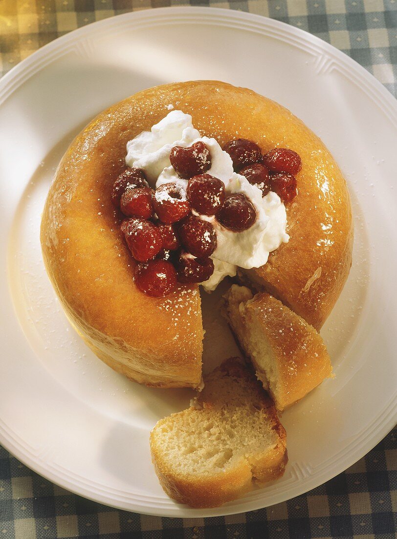
<svg viewBox="0 0 397 539"><path fill-rule="evenodd" d="M106 17L181 0L0 0L0 73L56 37ZM396 0L191 0L307 30L397 93ZM0 126L1 129L1 126ZM244 539L397 535L397 429L325 485L267 509L212 519L127 513L67 492L0 447L0 539Z"/></svg>

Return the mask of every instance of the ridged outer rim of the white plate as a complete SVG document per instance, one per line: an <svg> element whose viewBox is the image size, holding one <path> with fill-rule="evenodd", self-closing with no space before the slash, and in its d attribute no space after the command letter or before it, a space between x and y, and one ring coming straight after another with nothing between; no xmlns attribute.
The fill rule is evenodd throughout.
<svg viewBox="0 0 397 539"><path fill-rule="evenodd" d="M268 17L264 17L261 15L255 15L253 13L247 13L247 12L240 12L233 9L224 9L224 8L211 8L211 7L203 7L203 6L173 6L173 7L166 7L166 8L153 8L149 10L139 10L139 11L131 11L128 13L123 13L121 15L116 15L113 17L109 17L100 21L96 21L93 23L90 23L86 26L83 26L79 29L73 30L71 32L68 32L64 36L61 36L59 38L54 39L52 42L49 42L48 44L44 45L34 53L32 53L29 57L22 60L20 63L18 63L15 67L13 67L8 73L3 75L3 77L0 79L0 108L2 106L2 103L8 99L10 96L12 96L13 92L16 91L16 89L22 85L24 82L29 80L32 75L37 73L38 71L41 71L42 69L45 69L46 65L49 63L49 61L52 61L51 56L49 57L50 52L55 53L56 51L59 51L62 48L65 48L67 44L73 44L74 42L78 42L79 40L84 39L84 37L87 37L90 33L95 33L96 31L100 31L101 27L113 27L117 25L118 21L123 19L125 20L125 24L129 24L132 20L145 20L147 19L150 23L151 19L158 18L161 13L163 14L169 14L171 12L179 13L181 16L185 16L186 19L194 19L194 15L202 15L203 20L200 20L201 23L205 24L205 22L208 23L212 19L212 24L215 25L222 25L222 26L228 26L230 25L225 24L227 20L234 20L239 23L245 22L245 23L252 23L256 24L258 27L260 27L261 34L264 34L265 36L269 36L269 31L271 29L275 30L281 30L286 32L287 34L290 34L290 36L297 36L300 37L305 44L310 42L311 44L316 45L316 47L320 47L324 52L330 54L332 57L337 59L339 63L343 65L347 65L350 67L351 70L355 71L355 74L357 75L358 79L361 79L361 82L363 82L367 87L361 87L363 91L366 91L368 94L368 85L372 85L372 99L374 100L375 97L378 98L378 106L379 102L382 103L386 101L389 111L393 113L391 119L395 118L397 119L397 100L394 98L394 96L379 82L369 71L367 71L363 66L358 64L355 60L350 58L345 53L339 51L334 46L330 45L327 42L324 42L322 39L313 36L313 34L310 34L307 31L304 31L302 29L298 29L293 25L271 19ZM207 21L204 20L204 16L207 16ZM178 24L181 22L181 19L173 17L172 23ZM188 21L186 21L188 22ZM192 21L193 22L193 21ZM197 22L197 19L195 19L195 22ZM223 23L223 24L222 24ZM160 24L165 24L164 19L161 18ZM44 62L42 64L42 60L47 59L47 62ZM56 58L54 58L55 60ZM36 67L36 70L34 69ZM350 78L352 80L352 78ZM379 100L379 95L381 96L381 99ZM385 110L383 111L385 112ZM396 123L397 125L397 123ZM304 487L303 489L297 489L299 492L295 492L293 496L290 495L279 495L277 496L277 493L273 495L273 499L270 503L267 503L266 501L260 502L260 500L256 501L249 501L245 500L246 504L254 505L254 507L251 507L249 509L242 508L237 509L232 507L220 507L216 509L211 510L202 510L202 509L192 509L188 508L187 506L182 506L177 503L173 503L169 508L161 508L160 510L156 510L156 512L153 512L153 510L148 510L145 507L138 506L135 502L129 503L126 501L125 503L120 503L120 500L112 500L107 497L105 494L101 494L99 492L93 492L92 490L87 490L84 485L78 487L77 483L69 483L66 476L62 477L59 473L51 472L50 469L45 467L45 462L40 462L39 458L32 458L29 456L29 450L25 452L23 449L18 447L20 444L18 444L18 441L12 436L7 436L7 433L4 429L4 424L0 420L0 443L3 445L3 447L9 451L11 454L13 454L16 458L18 458L20 461L24 462L27 466L29 466L33 471L39 473L40 475L44 476L49 481L52 481L53 483L68 489L70 492L73 492L77 495L82 495L84 497L87 497L88 499L94 500L98 503L105 503L105 505L108 505L110 507L115 507L119 509L124 510L130 510L133 512L138 512L140 514L148 514L148 515L157 515L157 516L168 516L168 517L205 517L205 516L225 516L225 515L231 515L231 514L238 514L243 512L250 512L251 510L256 510L264 507L272 506L276 503L280 503L282 501L286 501L291 499L291 497L295 497L297 495L304 494L308 492L309 490L316 488L319 485L322 485L325 481L328 481L329 479L332 479L335 477L335 475L342 473L346 468L350 467L351 465L355 464L357 460L364 457L364 455L370 451L375 445L381 441L386 434L393 428L397 421L397 407L396 404L396 393L391 396L391 399L389 400L388 404L384 407L383 410L379 413L379 418L384 418L385 420L382 423L382 428L376 430L376 434L373 436L367 436L367 440L365 444L358 444L358 447L361 449L358 449L350 452L350 458L344 458L343 464L341 467L338 468L338 471L324 473L320 472L315 475L315 480L311 480L311 476L306 478L304 481ZM394 400L393 400L394 398ZM396 408L394 410L394 413L388 413L393 412L393 410L389 410L393 406ZM385 418L386 414L386 418ZM10 433L9 433L10 434ZM361 437L365 437L367 434L367 430L361 433L361 436L358 437L359 441ZM365 440L364 440L365 441ZM350 446L349 446L350 447ZM363 451L364 448L364 451ZM349 457L348 455L348 457ZM354 455L354 456L351 456ZM342 455L343 457L343 455ZM341 457L341 458L342 458ZM294 489L292 489L294 490ZM296 488L295 488L296 490ZM278 499L279 498L279 499ZM241 500L242 503L244 503L244 500ZM264 505L265 503L265 505Z"/></svg>

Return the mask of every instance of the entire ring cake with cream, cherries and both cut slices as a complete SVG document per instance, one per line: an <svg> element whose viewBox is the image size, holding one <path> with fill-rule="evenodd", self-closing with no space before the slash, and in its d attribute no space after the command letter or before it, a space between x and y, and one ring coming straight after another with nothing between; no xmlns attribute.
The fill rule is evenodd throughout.
<svg viewBox="0 0 397 539"><path fill-rule="evenodd" d="M250 289L233 288L224 313L279 410L331 374L318 330L348 276L352 240L346 183L320 139L278 103L218 81L150 88L98 115L63 156L41 224L47 272L70 321L98 357L139 383L200 385L198 286L212 291L237 274ZM250 368L239 362L211 378L226 388L216 399L221 415L253 410L228 397ZM256 382L247 386L256 394ZM212 403L205 399L204 408ZM263 399L263 421L275 421L282 433L273 404ZM178 445L177 431L189 439L189 421L175 421L169 447L173 436ZM210 430L223 429L215 423ZM161 432L157 427L156 441ZM226 444L231 453L219 469L202 468L207 479L219 479L207 505L245 492L252 477L270 477L255 470L258 462L266 468L276 446L282 473L285 436L263 436L260 458L247 460ZM205 506L197 491L205 481L194 466L169 487L178 472L169 466L172 451L161 468L153 440L166 491ZM201 462L205 452L191 442L186 458ZM239 486L223 496L231 462Z"/></svg>

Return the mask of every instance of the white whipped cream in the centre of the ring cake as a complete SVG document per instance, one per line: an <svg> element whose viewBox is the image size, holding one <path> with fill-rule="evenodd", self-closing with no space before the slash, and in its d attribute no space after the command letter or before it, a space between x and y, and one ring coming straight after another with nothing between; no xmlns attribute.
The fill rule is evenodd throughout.
<svg viewBox="0 0 397 539"><path fill-rule="evenodd" d="M247 230L233 232L217 222L215 216L199 215L214 226L217 247L211 258L215 271L201 283L207 292L215 290L219 282L230 275L236 275L237 266L251 269L266 264L269 253L286 243L287 215L280 197L270 192L262 197L262 191L242 175L233 171L233 163L228 153L222 150L215 139L201 136L192 125L192 116L181 110L172 110L150 131L144 131L127 143L125 162L129 167L145 171L148 182L158 188L175 182L186 189L188 181L176 174L169 161L169 153L174 146L188 148L202 141L209 149L211 168L206 174L215 176L225 184L226 196L234 193L246 195L257 210L256 222Z"/></svg>

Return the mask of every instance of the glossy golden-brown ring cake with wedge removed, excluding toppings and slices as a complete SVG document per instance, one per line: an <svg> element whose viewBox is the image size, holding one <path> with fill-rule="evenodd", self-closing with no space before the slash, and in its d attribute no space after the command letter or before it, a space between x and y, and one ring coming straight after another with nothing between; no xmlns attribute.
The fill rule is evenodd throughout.
<svg viewBox="0 0 397 539"><path fill-rule="evenodd" d="M244 137L263 151L278 145L301 155L299 195L287 209L291 239L255 273L317 328L349 272L351 211L342 174L321 141L277 103L223 82L147 89L105 110L76 137L56 171L41 225L46 268L62 306L91 348L123 374L152 385L195 386L203 337L197 287L180 287L165 299L141 294L110 203L126 142L164 118L169 105L191 114L193 125L221 145Z"/></svg>

